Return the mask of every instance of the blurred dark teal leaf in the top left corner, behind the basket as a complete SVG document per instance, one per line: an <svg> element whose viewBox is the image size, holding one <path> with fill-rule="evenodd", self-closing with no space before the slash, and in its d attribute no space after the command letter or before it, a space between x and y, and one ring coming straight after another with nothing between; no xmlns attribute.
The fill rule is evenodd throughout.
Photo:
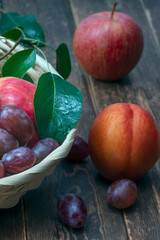
<svg viewBox="0 0 160 240"><path fill-rule="evenodd" d="M15 12L9 12L2 15L0 20L1 34L19 26L24 28L24 34L27 38L45 42L44 31L34 15L19 15Z"/></svg>

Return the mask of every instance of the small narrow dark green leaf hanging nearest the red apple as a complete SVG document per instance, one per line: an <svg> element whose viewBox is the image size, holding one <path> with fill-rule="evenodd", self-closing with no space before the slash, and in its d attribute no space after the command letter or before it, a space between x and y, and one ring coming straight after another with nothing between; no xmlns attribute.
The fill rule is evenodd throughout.
<svg viewBox="0 0 160 240"><path fill-rule="evenodd" d="M60 44L56 49L56 70L64 79L67 79L71 73L71 60L65 43Z"/></svg>

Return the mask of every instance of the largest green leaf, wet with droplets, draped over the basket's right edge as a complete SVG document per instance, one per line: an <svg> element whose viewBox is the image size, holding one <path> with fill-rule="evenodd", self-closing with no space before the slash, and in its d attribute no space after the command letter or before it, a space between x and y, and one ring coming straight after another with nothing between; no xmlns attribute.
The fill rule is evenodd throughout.
<svg viewBox="0 0 160 240"><path fill-rule="evenodd" d="M52 137L60 142L80 119L81 92L61 77L45 73L38 81L34 111L40 138Z"/></svg>

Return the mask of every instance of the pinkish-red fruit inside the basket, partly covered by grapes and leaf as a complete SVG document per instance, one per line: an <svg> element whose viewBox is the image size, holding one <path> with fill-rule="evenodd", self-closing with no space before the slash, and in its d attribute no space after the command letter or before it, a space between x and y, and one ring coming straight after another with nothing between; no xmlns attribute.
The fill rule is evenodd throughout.
<svg viewBox="0 0 160 240"><path fill-rule="evenodd" d="M15 77L0 78L0 108L9 104L16 105L23 109L33 121L35 132L28 143L29 147L33 147L39 141L33 108L35 91L36 85L23 79Z"/></svg>

